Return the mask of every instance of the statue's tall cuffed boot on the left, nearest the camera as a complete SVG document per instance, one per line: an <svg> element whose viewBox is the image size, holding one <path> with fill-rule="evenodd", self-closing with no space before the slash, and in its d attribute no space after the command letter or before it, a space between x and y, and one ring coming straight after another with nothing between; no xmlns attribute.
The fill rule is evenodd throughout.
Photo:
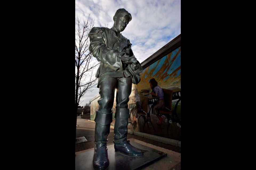
<svg viewBox="0 0 256 170"><path fill-rule="evenodd" d="M96 124L94 135L95 147L93 155L93 168L95 170L105 170L109 167L109 159L107 156L107 135L109 135L110 132L112 112L109 114L103 114L97 111L94 121Z"/></svg>

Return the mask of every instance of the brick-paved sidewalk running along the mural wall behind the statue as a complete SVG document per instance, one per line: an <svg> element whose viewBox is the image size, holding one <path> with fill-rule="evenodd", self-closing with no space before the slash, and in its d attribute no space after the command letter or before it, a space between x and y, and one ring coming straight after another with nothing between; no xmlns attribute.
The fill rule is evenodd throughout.
<svg viewBox="0 0 256 170"><path fill-rule="evenodd" d="M76 133L76 137L81 137L81 136L85 136L85 138L87 139L87 142L83 142L83 143L78 143L75 144L75 152L80 152L83 150L87 150L87 149L91 149L94 148L94 129L95 129L95 123L94 122L90 122L86 119L81 119L80 116L78 116L77 118L77 133ZM108 142L107 145L113 145L113 138L114 138L114 129L110 128L110 133L107 137ZM161 143L158 141L153 141L151 139L147 139L147 138L143 138L140 136L136 136L133 134L129 134L127 135L127 139L137 139L139 141L142 142L146 142L155 146L159 146L174 152L178 152L181 153L181 148L176 147L176 146L172 146L166 143Z"/></svg>

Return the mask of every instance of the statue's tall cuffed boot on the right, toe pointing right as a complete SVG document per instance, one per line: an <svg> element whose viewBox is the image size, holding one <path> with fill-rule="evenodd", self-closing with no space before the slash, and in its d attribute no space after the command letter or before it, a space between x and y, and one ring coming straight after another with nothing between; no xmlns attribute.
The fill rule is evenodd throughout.
<svg viewBox="0 0 256 170"><path fill-rule="evenodd" d="M143 152L132 146L127 141L127 125L129 118L129 109L117 108L115 114L115 127L114 127L114 148L115 152L129 156L142 156Z"/></svg>

